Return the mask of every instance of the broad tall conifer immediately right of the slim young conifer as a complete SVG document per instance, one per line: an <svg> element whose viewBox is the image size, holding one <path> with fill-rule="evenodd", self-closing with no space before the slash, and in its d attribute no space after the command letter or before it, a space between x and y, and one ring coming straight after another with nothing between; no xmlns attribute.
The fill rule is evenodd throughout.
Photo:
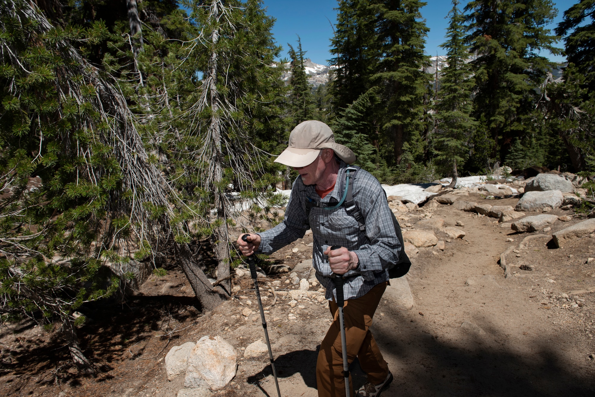
<svg viewBox="0 0 595 397"><path fill-rule="evenodd" d="M550 0L471 1L465 10L467 43L477 53L473 115L482 124L473 140L481 144L487 138L492 145L487 151L475 148L474 162L501 161L514 138L539 124L538 89L555 66L539 53L560 53L553 46L558 37L545 27L556 10Z"/></svg>

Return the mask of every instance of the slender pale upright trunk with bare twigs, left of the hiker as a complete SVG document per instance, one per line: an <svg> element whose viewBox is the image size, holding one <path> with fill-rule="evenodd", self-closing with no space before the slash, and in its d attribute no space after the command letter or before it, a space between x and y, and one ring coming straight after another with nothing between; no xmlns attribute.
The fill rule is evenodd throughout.
<svg viewBox="0 0 595 397"><path fill-rule="evenodd" d="M217 7L215 5L214 7ZM217 12L215 11L215 14ZM217 45L219 39L219 30L213 30L211 35L211 42L213 47ZM223 190L221 188L221 181L223 180L223 147L221 137L221 120L218 115L219 110L219 92L217 91L217 51L213 50L211 59L209 61L209 74L211 77L211 133L215 143L214 156L215 161L215 209L217 209L217 221L221 225L215 231L217 239L215 246L215 254L217 254L217 283L220 285L228 295L231 295L231 282L229 281L229 242L227 241L227 215L225 207L225 199L223 197Z"/></svg>

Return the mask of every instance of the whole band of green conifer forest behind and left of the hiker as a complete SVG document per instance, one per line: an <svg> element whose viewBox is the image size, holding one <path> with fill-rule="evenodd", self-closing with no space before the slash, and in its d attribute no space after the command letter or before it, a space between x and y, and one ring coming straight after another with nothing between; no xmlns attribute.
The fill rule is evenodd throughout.
<svg viewBox="0 0 595 397"><path fill-rule="evenodd" d="M339 0L314 87L259 0L0 0L0 322L58 329L92 376L85 305L172 263L201 310L228 300L233 243L280 221L297 173L273 160L308 119L383 184L504 165L592 181L595 0L452 0L433 74L424 5Z"/></svg>

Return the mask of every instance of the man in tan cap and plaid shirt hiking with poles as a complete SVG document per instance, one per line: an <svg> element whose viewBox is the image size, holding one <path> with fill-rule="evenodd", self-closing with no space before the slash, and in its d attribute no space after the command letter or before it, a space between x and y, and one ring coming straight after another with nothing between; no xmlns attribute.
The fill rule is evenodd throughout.
<svg viewBox="0 0 595 397"><path fill-rule="evenodd" d="M334 142L328 125L314 120L297 125L289 136L289 147L275 160L300 174L293 182L283 222L250 234L248 241L241 236L237 240L245 255L270 254L312 229L312 265L327 289L334 319L318 353L316 379L321 397L346 395L337 305L337 301L342 305L343 298L337 298L337 276L343 281L337 285L343 285L346 300L342 317L347 361L358 357L368 374L368 382L357 395L379 396L393 380L369 327L389 285L389 267L399 261L402 243L383 188L368 172L349 166L354 161L350 149ZM353 390L350 377L348 386Z"/></svg>

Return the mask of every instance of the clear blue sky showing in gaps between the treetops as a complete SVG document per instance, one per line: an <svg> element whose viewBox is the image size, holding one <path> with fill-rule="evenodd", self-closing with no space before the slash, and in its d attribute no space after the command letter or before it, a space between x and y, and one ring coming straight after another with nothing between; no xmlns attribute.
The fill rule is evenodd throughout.
<svg viewBox="0 0 595 397"><path fill-rule="evenodd" d="M426 0L427 5L422 8L422 16L430 28L428 33L426 52L430 55L444 55L444 50L439 45L444 42L444 33L448 20L444 17L452 8L448 0ZM465 4L465 0L461 1ZM577 3L578 0L558 0L554 1L558 8L558 17L549 27L553 29L556 24L562 20L565 10ZM337 7L336 0L264 0L264 6L267 7L267 14L277 18L277 23L273 28L273 34L277 43L283 46L284 56L287 56L287 43L296 45L297 34L302 39L302 47L306 53L306 58L311 58L317 64L327 64L327 59L331 58L329 52L330 38L333 36L331 23L335 23L337 12L333 8ZM329 22L330 20L330 22ZM559 47L563 43L558 43ZM562 56L553 56L549 52L544 53L550 60L562 62L565 59Z"/></svg>

